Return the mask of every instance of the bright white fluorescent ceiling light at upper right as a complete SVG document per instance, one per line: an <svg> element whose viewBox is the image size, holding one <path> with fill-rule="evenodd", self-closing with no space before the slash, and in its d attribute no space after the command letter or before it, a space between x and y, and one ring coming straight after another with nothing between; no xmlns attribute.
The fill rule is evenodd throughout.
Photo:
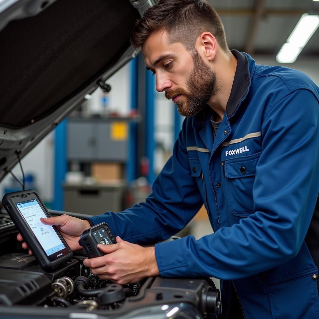
<svg viewBox="0 0 319 319"><path fill-rule="evenodd" d="M318 0L319 1L319 0ZM279 63L293 63L319 26L319 16L303 14L280 49L276 60Z"/></svg>

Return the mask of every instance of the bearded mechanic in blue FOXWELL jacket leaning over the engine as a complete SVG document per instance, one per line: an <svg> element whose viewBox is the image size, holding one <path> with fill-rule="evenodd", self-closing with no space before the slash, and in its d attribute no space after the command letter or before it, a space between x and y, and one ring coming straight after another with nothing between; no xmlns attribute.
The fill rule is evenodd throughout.
<svg viewBox="0 0 319 319"><path fill-rule="evenodd" d="M203 0L161 0L131 42L156 90L186 117L173 156L145 203L42 222L73 250L100 222L120 235L99 245L108 255L84 261L102 279L212 276L221 279L223 318L319 318L319 88L299 71L230 51ZM203 203L213 234L136 244L169 238Z"/></svg>

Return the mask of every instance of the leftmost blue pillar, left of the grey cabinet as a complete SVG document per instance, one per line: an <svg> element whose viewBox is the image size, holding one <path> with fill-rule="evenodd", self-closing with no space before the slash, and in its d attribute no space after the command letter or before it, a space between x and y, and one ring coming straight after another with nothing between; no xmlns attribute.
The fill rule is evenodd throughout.
<svg viewBox="0 0 319 319"><path fill-rule="evenodd" d="M55 130L55 153L54 153L54 198L53 209L63 210L63 188L67 172L67 119L63 120Z"/></svg>

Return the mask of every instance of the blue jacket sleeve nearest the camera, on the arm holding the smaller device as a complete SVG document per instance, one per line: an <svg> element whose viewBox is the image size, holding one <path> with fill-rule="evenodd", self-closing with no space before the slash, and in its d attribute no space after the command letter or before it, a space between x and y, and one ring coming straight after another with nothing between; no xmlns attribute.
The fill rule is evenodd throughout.
<svg viewBox="0 0 319 319"><path fill-rule="evenodd" d="M163 277L247 277L294 256L306 236L319 190L319 105L299 89L268 108L253 186L254 213L198 241L155 245Z"/></svg>

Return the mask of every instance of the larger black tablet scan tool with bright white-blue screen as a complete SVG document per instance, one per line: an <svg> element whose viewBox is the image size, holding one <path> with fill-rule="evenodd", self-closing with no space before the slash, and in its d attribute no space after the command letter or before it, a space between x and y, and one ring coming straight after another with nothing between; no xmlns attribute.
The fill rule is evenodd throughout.
<svg viewBox="0 0 319 319"><path fill-rule="evenodd" d="M51 270L73 256L56 226L41 223L41 217L51 215L34 190L5 194L2 204L42 269Z"/></svg>

